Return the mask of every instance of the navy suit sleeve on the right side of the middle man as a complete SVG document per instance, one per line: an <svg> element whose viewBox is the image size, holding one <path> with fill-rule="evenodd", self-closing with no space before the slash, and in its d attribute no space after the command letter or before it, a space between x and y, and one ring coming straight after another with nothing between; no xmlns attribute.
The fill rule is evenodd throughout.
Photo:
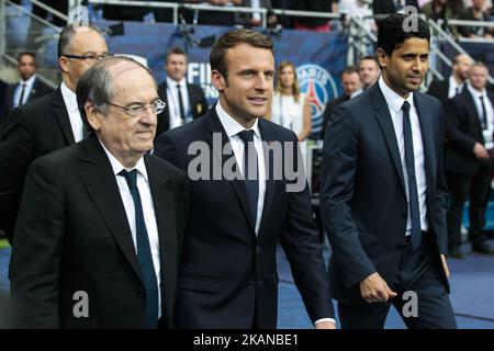
<svg viewBox="0 0 494 351"><path fill-rule="evenodd" d="M293 143L299 144L294 134ZM303 180L304 189L291 192L280 242L290 262L294 282L308 316L315 322L321 318L334 318L335 314L323 257L323 245L313 219L305 177Z"/></svg>

